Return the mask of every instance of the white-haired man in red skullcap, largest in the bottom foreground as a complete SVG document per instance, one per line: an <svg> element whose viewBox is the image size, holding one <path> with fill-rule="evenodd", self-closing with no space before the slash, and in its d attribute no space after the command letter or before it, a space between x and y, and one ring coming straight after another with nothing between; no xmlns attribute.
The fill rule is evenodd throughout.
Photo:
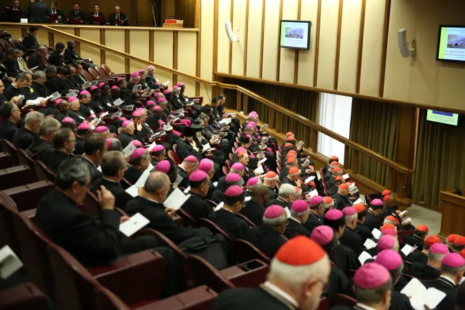
<svg viewBox="0 0 465 310"><path fill-rule="evenodd" d="M322 247L310 238L297 236L283 245L271 260L267 282L258 288L223 291L212 309L316 310L328 284L330 269Z"/></svg>

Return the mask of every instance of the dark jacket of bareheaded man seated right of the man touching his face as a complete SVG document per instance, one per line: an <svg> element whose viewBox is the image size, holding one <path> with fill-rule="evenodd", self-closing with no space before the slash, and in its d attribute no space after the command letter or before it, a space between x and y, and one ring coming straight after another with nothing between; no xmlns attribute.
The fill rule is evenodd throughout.
<svg viewBox="0 0 465 310"><path fill-rule="evenodd" d="M147 200L141 196L130 200L126 205L126 212L130 216L140 213L145 216L150 223L147 227L160 231L177 245L189 238L202 235L201 231L190 226L183 227L169 217L165 212L165 207L161 203ZM205 236L205 234L203 234Z"/></svg>

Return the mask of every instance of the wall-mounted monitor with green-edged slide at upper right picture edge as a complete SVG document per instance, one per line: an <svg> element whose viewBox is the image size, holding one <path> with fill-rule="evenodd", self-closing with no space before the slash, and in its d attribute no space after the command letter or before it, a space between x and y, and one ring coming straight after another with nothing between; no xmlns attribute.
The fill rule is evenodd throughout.
<svg viewBox="0 0 465 310"><path fill-rule="evenodd" d="M465 26L440 25L436 59L465 61Z"/></svg>

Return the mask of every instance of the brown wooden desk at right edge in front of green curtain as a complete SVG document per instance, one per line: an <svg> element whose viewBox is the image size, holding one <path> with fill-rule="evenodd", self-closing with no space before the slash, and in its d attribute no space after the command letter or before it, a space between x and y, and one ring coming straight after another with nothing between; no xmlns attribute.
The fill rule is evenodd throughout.
<svg viewBox="0 0 465 310"><path fill-rule="evenodd" d="M455 189L442 191L442 219L440 236L465 235L465 196L454 194ZM465 188L462 188L465 192Z"/></svg>

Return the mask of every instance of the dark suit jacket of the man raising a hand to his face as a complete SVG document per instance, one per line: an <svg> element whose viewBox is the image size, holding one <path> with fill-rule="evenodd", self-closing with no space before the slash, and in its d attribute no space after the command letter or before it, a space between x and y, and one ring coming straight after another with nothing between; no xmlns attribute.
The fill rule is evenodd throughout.
<svg viewBox="0 0 465 310"><path fill-rule="evenodd" d="M119 219L113 210L103 210L101 219L92 218L56 189L43 196L36 214L45 234L87 267L106 265L121 254Z"/></svg>

